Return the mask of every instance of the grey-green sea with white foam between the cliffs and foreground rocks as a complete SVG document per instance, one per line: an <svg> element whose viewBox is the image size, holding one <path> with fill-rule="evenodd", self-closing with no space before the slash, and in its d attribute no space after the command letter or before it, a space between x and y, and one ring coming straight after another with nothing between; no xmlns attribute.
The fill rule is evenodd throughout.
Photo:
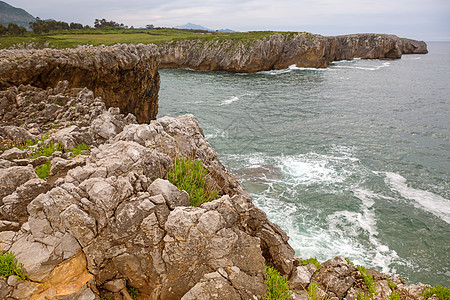
<svg viewBox="0 0 450 300"><path fill-rule="evenodd" d="M254 74L160 70L296 256L450 286L450 43Z"/></svg>

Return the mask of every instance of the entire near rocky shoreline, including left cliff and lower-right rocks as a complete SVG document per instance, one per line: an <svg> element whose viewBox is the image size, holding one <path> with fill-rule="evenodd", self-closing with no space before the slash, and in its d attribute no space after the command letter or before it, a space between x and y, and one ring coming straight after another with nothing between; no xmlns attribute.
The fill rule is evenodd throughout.
<svg viewBox="0 0 450 300"><path fill-rule="evenodd" d="M139 120L121 103L133 86L114 98L118 107L107 97L121 85L103 94L108 80L82 86L80 78L95 81L99 68L114 70L112 82L127 70L131 84L144 63L152 79L139 81L136 93L157 94L159 58L151 50L140 59L144 47L51 50L50 57L30 50L21 52L25 67L12 52L0 52L0 250L13 252L28 274L0 277L1 299L132 299L132 290L138 299L263 299L266 265L290 281L293 299L311 298L312 286L319 299L423 299L424 285L357 269L342 256L304 265L286 233L221 164L194 116ZM86 66L89 57L82 75L61 72ZM44 87L42 75L20 75L26 67L75 82L48 80ZM135 107L148 107L143 99ZM56 151L39 152L53 145ZM78 154L78 145L90 148ZM202 162L217 200L191 207L185 191L161 179L179 157ZM40 178L36 170L44 165L49 174Z"/></svg>

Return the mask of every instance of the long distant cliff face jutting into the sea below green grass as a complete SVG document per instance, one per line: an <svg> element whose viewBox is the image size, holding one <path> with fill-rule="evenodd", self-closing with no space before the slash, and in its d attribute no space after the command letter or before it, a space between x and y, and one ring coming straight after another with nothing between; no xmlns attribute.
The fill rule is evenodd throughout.
<svg viewBox="0 0 450 300"><path fill-rule="evenodd" d="M161 68L251 73L297 67L324 68L353 58L401 58L403 53L427 53L425 42L385 34L325 37L309 33L276 34L256 41L185 40L158 47Z"/></svg>

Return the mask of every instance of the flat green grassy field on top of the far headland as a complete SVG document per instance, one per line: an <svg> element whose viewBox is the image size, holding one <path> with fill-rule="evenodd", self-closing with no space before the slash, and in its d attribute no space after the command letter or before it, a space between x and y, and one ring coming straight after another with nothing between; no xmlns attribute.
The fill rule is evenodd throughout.
<svg viewBox="0 0 450 300"><path fill-rule="evenodd" d="M80 29L70 31L53 31L44 35L0 37L0 49L10 48L18 44L26 45L34 43L35 47L51 48L73 48L78 45L114 45L117 43L126 44L162 44L169 41L180 41L186 39L210 40L240 40L254 41L276 33L293 35L292 32L275 31L252 31L252 32L212 32L198 34L189 30L179 29Z"/></svg>

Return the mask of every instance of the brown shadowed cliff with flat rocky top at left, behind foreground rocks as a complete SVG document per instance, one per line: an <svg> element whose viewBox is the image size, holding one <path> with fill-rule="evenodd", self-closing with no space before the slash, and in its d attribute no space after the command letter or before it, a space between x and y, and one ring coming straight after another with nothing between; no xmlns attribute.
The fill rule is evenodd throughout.
<svg viewBox="0 0 450 300"><path fill-rule="evenodd" d="M145 123L158 113L159 56L151 45L77 49L1 50L0 89L30 84L55 88L88 87L107 107L119 107Z"/></svg>

